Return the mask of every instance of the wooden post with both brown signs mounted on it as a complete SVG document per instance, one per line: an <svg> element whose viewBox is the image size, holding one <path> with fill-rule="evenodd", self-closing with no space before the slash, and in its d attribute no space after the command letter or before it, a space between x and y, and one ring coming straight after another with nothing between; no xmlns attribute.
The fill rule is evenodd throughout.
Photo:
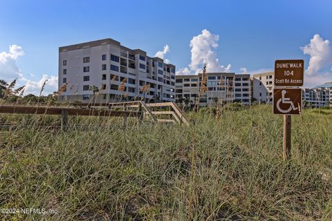
<svg viewBox="0 0 332 221"><path fill-rule="evenodd" d="M303 75L303 60L275 61L273 113L284 115L284 160L291 159L291 115L301 114Z"/></svg>

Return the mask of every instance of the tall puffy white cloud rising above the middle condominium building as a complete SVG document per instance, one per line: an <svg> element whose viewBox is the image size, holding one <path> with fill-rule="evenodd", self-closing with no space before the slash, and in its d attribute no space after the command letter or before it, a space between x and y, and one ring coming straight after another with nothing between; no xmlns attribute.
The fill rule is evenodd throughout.
<svg viewBox="0 0 332 221"><path fill-rule="evenodd" d="M231 65L223 66L219 64L216 52L218 48L219 35L213 35L208 30L202 30L200 35L194 36L190 41L191 62L189 68L180 68L176 75L190 75L202 72L202 67L207 64L208 72L230 72Z"/></svg>

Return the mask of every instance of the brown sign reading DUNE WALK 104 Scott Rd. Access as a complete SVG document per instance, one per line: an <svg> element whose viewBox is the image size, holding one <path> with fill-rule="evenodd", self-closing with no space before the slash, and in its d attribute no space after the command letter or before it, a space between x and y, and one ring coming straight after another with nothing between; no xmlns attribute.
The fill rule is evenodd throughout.
<svg viewBox="0 0 332 221"><path fill-rule="evenodd" d="M275 86L303 86L303 60L275 61Z"/></svg>

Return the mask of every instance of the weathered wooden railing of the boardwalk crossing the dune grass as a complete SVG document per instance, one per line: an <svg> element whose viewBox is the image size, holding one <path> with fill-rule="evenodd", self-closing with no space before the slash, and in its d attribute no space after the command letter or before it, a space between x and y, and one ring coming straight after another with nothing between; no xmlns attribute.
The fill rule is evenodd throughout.
<svg viewBox="0 0 332 221"><path fill-rule="evenodd" d="M151 108L169 108L169 111L151 111ZM130 110L134 108L134 110ZM116 110L114 110L116 109ZM119 111L119 109L122 109ZM172 109L172 110L171 110ZM9 114L38 114L38 115L61 115L61 128L68 126L68 115L99 116L99 117L123 117L124 126L127 125L127 117L137 117L141 122L143 117L151 119L152 122L179 122L189 126L181 110L173 102L146 104L142 101L119 102L100 105L75 104L74 107L54 107L54 106L12 106L0 105L0 113ZM157 116L168 115L173 119L158 119ZM175 121L174 121L175 119Z"/></svg>

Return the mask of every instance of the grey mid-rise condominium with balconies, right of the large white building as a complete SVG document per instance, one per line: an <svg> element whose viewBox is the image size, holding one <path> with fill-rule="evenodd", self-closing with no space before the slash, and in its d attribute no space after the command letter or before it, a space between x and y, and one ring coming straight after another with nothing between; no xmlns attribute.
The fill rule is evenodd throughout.
<svg viewBox="0 0 332 221"><path fill-rule="evenodd" d="M201 73L176 75L176 102L192 105L199 102L199 106L215 106L216 101L219 100L250 105L250 75L207 73L207 91L199 95L201 84Z"/></svg>

